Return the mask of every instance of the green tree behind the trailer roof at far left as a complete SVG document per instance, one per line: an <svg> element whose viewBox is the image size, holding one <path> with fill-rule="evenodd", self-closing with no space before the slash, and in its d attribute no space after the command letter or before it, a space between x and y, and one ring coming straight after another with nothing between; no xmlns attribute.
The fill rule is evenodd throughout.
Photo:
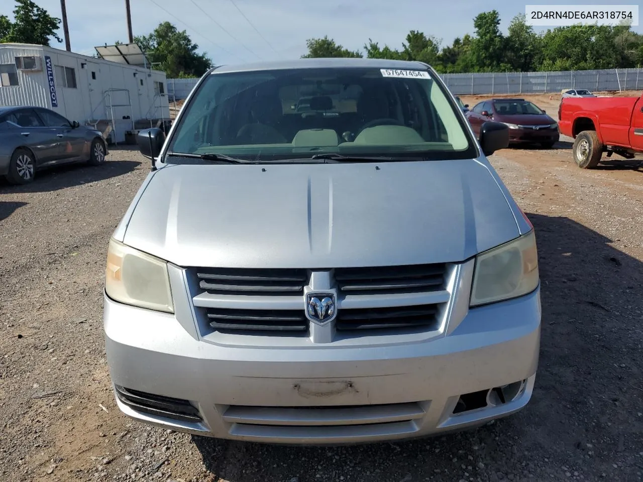
<svg viewBox="0 0 643 482"><path fill-rule="evenodd" d="M14 21L0 15L0 42L46 45L50 37L62 42L57 35L60 19L52 17L31 0L15 0Z"/></svg>

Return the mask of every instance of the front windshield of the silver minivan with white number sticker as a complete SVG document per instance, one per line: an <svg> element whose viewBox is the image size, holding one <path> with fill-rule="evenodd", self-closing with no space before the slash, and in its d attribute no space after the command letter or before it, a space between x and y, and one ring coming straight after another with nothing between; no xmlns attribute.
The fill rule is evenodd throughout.
<svg viewBox="0 0 643 482"><path fill-rule="evenodd" d="M476 157L455 109L429 71L215 71L185 106L168 150L252 161L320 153Z"/></svg>

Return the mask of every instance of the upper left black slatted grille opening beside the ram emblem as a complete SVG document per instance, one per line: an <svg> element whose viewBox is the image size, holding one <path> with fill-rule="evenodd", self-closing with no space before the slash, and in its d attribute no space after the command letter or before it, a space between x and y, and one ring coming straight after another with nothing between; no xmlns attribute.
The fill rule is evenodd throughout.
<svg viewBox="0 0 643 482"><path fill-rule="evenodd" d="M303 294L305 269L202 269L199 287L213 294Z"/></svg>

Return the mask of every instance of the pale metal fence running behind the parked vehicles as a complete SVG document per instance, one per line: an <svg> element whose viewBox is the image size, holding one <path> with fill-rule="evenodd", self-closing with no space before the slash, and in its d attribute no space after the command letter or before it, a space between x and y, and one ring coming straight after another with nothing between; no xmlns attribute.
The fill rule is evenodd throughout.
<svg viewBox="0 0 643 482"><path fill-rule="evenodd" d="M643 69L577 70L561 72L496 72L440 75L455 95L544 94L563 89L590 91L643 90ZM171 78L167 90L176 100L185 99L197 78Z"/></svg>

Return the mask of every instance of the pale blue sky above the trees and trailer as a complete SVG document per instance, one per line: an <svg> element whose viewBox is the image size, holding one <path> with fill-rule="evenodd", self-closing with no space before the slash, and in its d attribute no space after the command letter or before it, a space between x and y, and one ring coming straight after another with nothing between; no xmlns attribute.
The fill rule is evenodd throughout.
<svg viewBox="0 0 643 482"><path fill-rule="evenodd" d="M3 0L0 13L12 16L12 0ZM42 8L60 17L59 0L35 0ZM107 5L109 3L109 6ZM91 54L97 45L127 42L125 1L109 0L96 8L87 0L66 0L71 49ZM165 8L164 12L154 3ZM231 35L217 26L206 13ZM473 17L496 9L506 32L514 15L525 12L525 3L500 0L235 0L257 31L244 19L231 0L131 0L134 35L152 31L159 22L170 21L186 30L215 64L237 64L253 60L298 58L306 52L306 40L328 35L342 46L360 49L369 38L380 46L399 48L410 30L424 31L450 44L455 37L473 33ZM554 1L529 1L552 4ZM606 4L574 0L558 4ZM622 1L622 4L637 4ZM97 4L96 4L97 5ZM641 26L633 30L642 32ZM59 33L62 38L62 31ZM234 37L234 38L233 38ZM264 40L265 39L265 40ZM53 47L64 49L54 42Z"/></svg>

